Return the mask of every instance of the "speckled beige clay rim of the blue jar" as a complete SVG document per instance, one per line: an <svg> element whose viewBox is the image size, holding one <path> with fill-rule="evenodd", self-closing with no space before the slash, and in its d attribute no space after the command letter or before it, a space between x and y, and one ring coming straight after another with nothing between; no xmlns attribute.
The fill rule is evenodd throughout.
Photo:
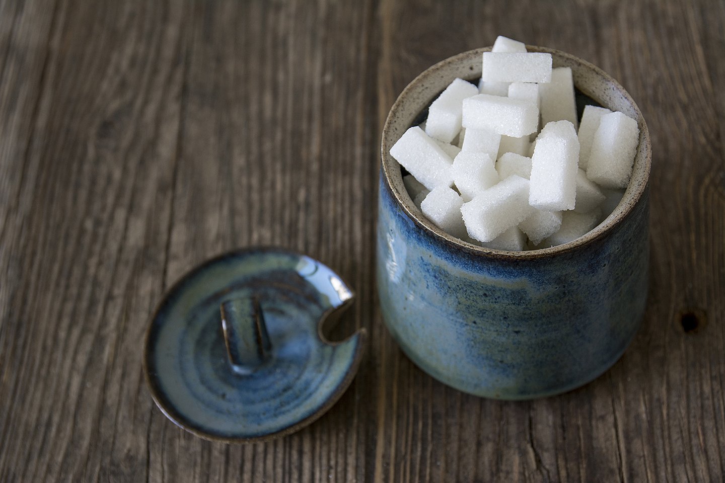
<svg viewBox="0 0 725 483"><path fill-rule="evenodd" d="M576 88L578 88L579 91L586 94L587 96L595 99L595 101L602 104L602 106L608 107L606 103L602 102L602 100L597 95L595 95L595 93L592 92L592 90L589 88L589 85L581 85L580 83L576 83L576 77L579 76L577 71L581 72L582 70L588 71L595 76L602 78L610 88L614 88L614 90L619 95L621 95L626 102L631 104L632 109L634 109L634 112L637 113L637 123L639 125L639 145L637 146L637 154L634 159L634 168L632 169L632 176L631 180L629 181L629 185L627 186L624 196L622 197L622 200L620 201L616 209L594 230L590 231L586 235L577 238L576 240L573 240L569 243L564 243L563 245L556 245L551 248L541 248L539 250L505 251L494 250L492 248L484 248L454 238L451 235L448 235L446 232L440 230L439 227L436 227L436 225L429 222L428 219L423 216L423 213L418 209L417 206L413 204L410 196L408 196L407 190L405 190L405 185L403 185L402 182L400 165L392 158L392 156L390 156L390 148L397 140L391 139L391 131L393 127L397 127L397 125L395 125L396 122L400 122L398 119L396 119L397 115L403 109L407 108L410 103L414 102L412 98L420 94L415 91L418 91L421 88L421 84L431 81L435 83L437 80L441 82L441 84L439 85L439 89L431 90L430 98L427 98L424 101L419 101L418 104L415 106L417 108L415 112L418 113L425 109L426 106L431 103L433 98L437 96L438 93L442 91L445 86L453 80L453 77L441 75L440 72L445 67L449 67L450 64L460 63L463 67L467 67L466 70L463 70L462 67L460 69L460 72L457 72L458 77L462 77L464 79L471 79L473 78L473 76L480 77L481 57L484 52L491 50L490 46L484 47L482 49L466 51L462 54L457 54L455 56L449 57L448 59L445 59L442 62L435 64L433 67L428 68L427 70L422 72L421 75L418 75L418 77L415 77L415 79L413 79L413 81L408 84L405 89L403 89L402 93L400 93L392 108L390 109L388 117L385 121L385 125L383 127L383 133L381 138L382 172L386 180L386 188L392 193L393 198L397 201L397 203L399 203L399 206L401 206L403 211L405 211L405 214L407 214L407 216L410 217L413 222L418 224L420 227L423 227L425 230L428 230L436 237L441 238L448 245L453 245L456 248L471 253L477 253L481 256L488 256L497 259L539 259L547 256L554 256L558 253L573 251L584 245L592 243L593 241L601 238L602 236L605 236L608 232L613 230L614 227L616 227L625 217L627 217L627 215L629 215L632 209L634 209L634 206L639 203L639 200L645 193L645 190L647 189L647 183L650 179L650 167L652 164L650 132L649 130L647 130L647 123L645 122L645 118L642 116L642 112L639 110L639 107L634 102L634 99L631 98L629 93L616 80L614 80L610 75L601 70L599 67L583 59L579 59L579 57L577 56L573 56L571 54L567 54L566 52L556 49L547 49L545 47L539 46L527 45L526 49L530 52L546 52L552 54L554 67L559 67L562 65L569 67L576 66L576 69L573 69ZM410 127L410 125L402 126L402 129L405 131L407 127Z"/></svg>

